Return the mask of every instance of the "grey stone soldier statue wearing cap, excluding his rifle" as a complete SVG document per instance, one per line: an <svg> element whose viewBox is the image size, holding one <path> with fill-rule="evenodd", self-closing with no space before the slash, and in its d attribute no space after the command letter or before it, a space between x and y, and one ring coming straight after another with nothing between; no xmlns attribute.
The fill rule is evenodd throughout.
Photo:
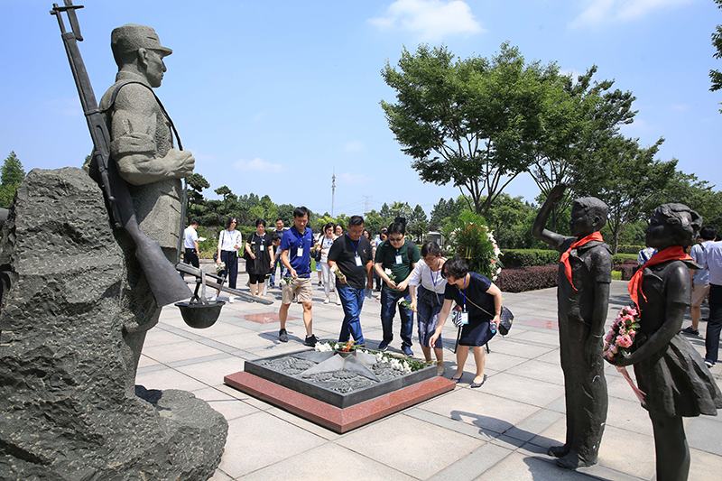
<svg viewBox="0 0 722 481"><path fill-rule="evenodd" d="M111 33L110 46L118 66L116 83L108 88L99 108L110 134L110 155L117 171L127 182L134 199L135 215L143 233L161 244L171 263L177 259L182 185L180 179L193 172L190 152L173 146L171 119L155 97L161 86L163 47L153 28L127 24ZM145 333L158 322L161 309L132 254L133 244L124 232L117 234L125 251L127 280L121 298L128 375L133 389L135 370L143 349Z"/></svg>

